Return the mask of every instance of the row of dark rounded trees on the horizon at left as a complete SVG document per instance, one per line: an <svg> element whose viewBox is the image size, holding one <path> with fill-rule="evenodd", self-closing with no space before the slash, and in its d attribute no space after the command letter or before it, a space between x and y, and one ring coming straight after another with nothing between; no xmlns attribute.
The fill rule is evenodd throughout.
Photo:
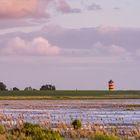
<svg viewBox="0 0 140 140"><path fill-rule="evenodd" d="M13 87L10 90L20 91L20 89L17 87ZM34 88L29 86L29 87L26 87L24 90L25 91L32 91L32 90L37 90L37 89L34 89ZM45 84L45 85L42 85L39 90L56 90L56 87L55 87L55 85L52 85L52 84ZM0 91L8 91L7 86L3 82L0 82Z"/></svg>

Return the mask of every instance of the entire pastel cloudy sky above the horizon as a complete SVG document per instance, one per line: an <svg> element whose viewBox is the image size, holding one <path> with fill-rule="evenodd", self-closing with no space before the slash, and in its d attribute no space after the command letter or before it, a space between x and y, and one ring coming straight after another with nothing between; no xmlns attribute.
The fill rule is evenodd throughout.
<svg viewBox="0 0 140 140"><path fill-rule="evenodd" d="M7 88L140 89L140 0L0 0Z"/></svg>

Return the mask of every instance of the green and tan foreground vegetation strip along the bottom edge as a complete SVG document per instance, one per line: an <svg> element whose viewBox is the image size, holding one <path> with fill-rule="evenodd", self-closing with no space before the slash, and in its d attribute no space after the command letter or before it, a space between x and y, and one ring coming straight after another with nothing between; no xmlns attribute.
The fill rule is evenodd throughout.
<svg viewBox="0 0 140 140"><path fill-rule="evenodd" d="M1 140L139 140L139 135L136 133L132 136L132 139L128 139L129 135L119 136L96 127L94 127L94 130L88 131L86 129L72 129L72 126L68 127L66 124L59 125L55 130L28 122L20 125L16 124L11 128L0 124L0 127L2 128L2 131L0 131Z"/></svg>

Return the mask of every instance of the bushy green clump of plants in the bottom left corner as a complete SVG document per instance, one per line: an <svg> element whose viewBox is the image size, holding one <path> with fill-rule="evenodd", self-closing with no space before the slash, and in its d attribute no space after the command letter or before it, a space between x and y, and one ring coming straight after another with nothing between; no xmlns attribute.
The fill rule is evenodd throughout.
<svg viewBox="0 0 140 140"><path fill-rule="evenodd" d="M4 126L0 125L1 127ZM59 132L41 128L37 124L25 123L0 133L0 140L62 140Z"/></svg>

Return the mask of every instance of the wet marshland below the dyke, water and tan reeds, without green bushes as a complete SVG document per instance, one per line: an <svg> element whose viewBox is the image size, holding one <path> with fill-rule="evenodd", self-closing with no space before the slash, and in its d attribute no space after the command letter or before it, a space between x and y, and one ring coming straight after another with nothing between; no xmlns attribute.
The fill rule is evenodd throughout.
<svg viewBox="0 0 140 140"><path fill-rule="evenodd" d="M73 128L74 120L80 120L81 128ZM0 101L0 123L5 133L23 128L27 122L57 132L65 139L96 140L102 135L112 140L138 140L140 99Z"/></svg>

